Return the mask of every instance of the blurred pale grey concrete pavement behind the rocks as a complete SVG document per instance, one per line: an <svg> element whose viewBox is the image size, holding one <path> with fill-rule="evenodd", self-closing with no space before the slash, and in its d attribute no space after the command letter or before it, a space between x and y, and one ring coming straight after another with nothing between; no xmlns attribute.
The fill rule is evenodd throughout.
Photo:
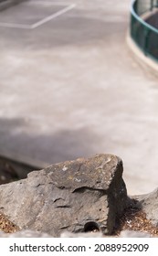
<svg viewBox="0 0 158 256"><path fill-rule="evenodd" d="M115 154L129 194L158 186L158 83L126 44L129 6L34 0L0 14L1 155L51 164Z"/></svg>

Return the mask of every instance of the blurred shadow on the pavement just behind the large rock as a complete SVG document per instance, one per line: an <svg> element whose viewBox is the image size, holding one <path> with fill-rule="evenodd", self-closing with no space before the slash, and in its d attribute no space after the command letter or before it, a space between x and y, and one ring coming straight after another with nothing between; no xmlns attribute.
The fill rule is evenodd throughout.
<svg viewBox="0 0 158 256"><path fill-rule="evenodd" d="M52 133L47 133L37 124L37 131L33 129L23 119L0 119L0 151L48 164L96 154L98 136L85 128L53 132L52 127Z"/></svg>

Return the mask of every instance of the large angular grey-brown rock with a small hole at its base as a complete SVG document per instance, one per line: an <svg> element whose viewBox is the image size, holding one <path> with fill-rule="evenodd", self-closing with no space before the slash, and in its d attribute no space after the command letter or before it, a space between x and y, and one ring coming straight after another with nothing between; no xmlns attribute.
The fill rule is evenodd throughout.
<svg viewBox="0 0 158 256"><path fill-rule="evenodd" d="M0 210L17 226L58 237L99 229L111 234L127 206L122 162L96 155L48 166L0 186Z"/></svg>

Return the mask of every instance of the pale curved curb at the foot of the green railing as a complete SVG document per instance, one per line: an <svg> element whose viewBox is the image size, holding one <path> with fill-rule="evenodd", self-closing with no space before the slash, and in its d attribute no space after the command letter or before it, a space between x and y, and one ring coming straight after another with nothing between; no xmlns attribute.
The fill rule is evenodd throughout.
<svg viewBox="0 0 158 256"><path fill-rule="evenodd" d="M158 78L158 63L143 54L141 49L138 48L132 40L129 31L127 33L126 42L128 47L132 50L133 56L135 57L136 61L142 66L142 68L150 71L154 76Z"/></svg>

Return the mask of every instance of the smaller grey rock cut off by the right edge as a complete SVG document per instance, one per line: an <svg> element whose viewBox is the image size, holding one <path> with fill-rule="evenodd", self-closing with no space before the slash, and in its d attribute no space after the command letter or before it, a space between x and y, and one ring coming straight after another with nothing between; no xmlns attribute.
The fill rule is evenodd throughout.
<svg viewBox="0 0 158 256"><path fill-rule="evenodd" d="M158 228L158 188L147 195L137 196L138 207L146 213L146 218L150 219L155 227Z"/></svg>

